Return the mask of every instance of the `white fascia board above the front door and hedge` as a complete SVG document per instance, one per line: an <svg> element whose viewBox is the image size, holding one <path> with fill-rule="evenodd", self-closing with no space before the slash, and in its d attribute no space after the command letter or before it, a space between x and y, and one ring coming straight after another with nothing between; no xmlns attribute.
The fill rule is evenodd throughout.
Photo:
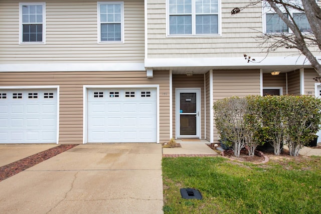
<svg viewBox="0 0 321 214"><path fill-rule="evenodd" d="M255 62L247 63L243 57L217 58L154 58L145 59L145 67L197 67L197 66L271 66L271 65L310 65L304 56L300 57L257 57Z"/></svg>

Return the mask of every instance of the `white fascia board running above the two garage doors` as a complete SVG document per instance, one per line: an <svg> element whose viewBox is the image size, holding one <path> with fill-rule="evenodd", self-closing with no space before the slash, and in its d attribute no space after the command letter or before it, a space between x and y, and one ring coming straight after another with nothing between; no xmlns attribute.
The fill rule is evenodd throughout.
<svg viewBox="0 0 321 214"><path fill-rule="evenodd" d="M11 63L0 64L0 72L53 71L145 71L144 63Z"/></svg>

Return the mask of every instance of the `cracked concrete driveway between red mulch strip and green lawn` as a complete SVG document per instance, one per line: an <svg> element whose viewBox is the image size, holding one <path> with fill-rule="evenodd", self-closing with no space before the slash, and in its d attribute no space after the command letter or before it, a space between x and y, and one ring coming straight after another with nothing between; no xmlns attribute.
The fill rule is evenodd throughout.
<svg viewBox="0 0 321 214"><path fill-rule="evenodd" d="M1 213L163 213L162 146L84 144L0 182Z"/></svg>

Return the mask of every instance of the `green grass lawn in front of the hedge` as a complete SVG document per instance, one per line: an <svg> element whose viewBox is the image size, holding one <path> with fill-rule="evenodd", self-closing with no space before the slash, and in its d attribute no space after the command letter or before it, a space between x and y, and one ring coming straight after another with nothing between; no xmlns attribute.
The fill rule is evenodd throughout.
<svg viewBox="0 0 321 214"><path fill-rule="evenodd" d="M165 213L321 213L321 158L266 164L223 157L163 158ZM196 188L202 200L184 199Z"/></svg>

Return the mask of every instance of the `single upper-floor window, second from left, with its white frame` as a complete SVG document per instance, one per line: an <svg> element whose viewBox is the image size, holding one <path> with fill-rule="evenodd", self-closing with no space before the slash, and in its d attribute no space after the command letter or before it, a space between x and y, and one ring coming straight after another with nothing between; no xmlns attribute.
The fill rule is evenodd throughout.
<svg viewBox="0 0 321 214"><path fill-rule="evenodd" d="M124 41L123 2L98 2L98 42Z"/></svg>

